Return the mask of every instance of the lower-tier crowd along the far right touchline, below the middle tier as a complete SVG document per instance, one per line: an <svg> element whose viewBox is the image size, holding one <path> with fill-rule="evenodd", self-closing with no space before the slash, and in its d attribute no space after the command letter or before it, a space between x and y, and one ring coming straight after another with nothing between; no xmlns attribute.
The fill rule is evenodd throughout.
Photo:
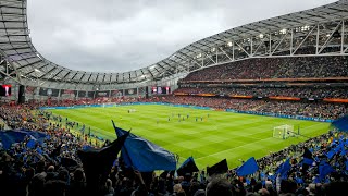
<svg viewBox="0 0 348 196"><path fill-rule="evenodd" d="M337 119L348 112L347 103L273 101L254 99L231 99L224 97L172 96L164 102L234 109L239 111L258 111L277 114L303 115L323 119Z"/></svg>

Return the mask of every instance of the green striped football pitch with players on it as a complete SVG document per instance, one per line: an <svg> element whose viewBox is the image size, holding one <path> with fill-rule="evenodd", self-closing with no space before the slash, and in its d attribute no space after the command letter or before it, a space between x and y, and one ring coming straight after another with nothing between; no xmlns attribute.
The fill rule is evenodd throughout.
<svg viewBox="0 0 348 196"><path fill-rule="evenodd" d="M135 111L128 113L129 109ZM291 144L303 142L307 137L321 135L327 132L330 126L328 123L322 122L160 105L50 111L69 118L70 121L84 123L86 127L90 126L91 133L108 139L116 138L112 119L116 126L132 128L133 134L179 155L179 163L192 156L199 169L225 158L228 167L235 168L241 164L240 160L250 157L258 159L271 151L278 151ZM288 139L272 137L273 128L284 124L294 125L296 131L300 127L300 134L303 136Z"/></svg>

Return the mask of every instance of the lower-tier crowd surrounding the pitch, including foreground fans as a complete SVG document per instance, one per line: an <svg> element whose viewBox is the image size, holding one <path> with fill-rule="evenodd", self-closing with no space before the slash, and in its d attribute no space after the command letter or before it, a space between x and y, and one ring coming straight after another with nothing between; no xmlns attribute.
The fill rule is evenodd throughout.
<svg viewBox="0 0 348 196"><path fill-rule="evenodd" d="M44 132L48 135L42 143L28 147L29 137L14 144L9 150L0 147L0 184L1 193L9 195L89 195L82 161L76 155L78 149L89 145L80 136L73 135L64 123L51 123L50 113L36 110L41 106L74 106L82 103L101 103L98 100L40 101L21 106L1 106L0 117L12 128L25 127ZM254 110L286 114L303 114L334 119L347 112L347 106L332 103L300 103L289 101L259 101L247 99L204 98L191 96L153 97L148 100L139 98L119 98L107 100L113 102L164 101ZM335 195L347 186L347 154L337 154L332 159L324 158L333 148L346 143L347 135L330 132L304 143L293 145L277 152L258 159L259 172L240 177L231 169L221 176L208 176L203 171L175 174L145 174L129 171L120 159L99 188L99 195ZM303 170L303 148L313 151L320 160L326 160L335 170L320 179L318 164L320 160ZM345 147L347 148L347 147ZM57 150L59 149L59 150ZM274 175L279 164L290 159L291 169L287 177ZM64 160L64 161L63 161ZM66 160L70 161L67 164ZM273 175L272 175L273 173Z"/></svg>

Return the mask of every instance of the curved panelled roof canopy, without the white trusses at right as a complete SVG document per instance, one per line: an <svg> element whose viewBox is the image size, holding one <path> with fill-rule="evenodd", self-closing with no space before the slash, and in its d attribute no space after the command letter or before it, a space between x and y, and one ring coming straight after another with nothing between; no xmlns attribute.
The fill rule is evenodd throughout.
<svg viewBox="0 0 348 196"><path fill-rule="evenodd" d="M0 0L0 49L3 58L12 65L13 73L28 79L91 85L137 83L192 71L192 64L200 64L197 62L198 56L210 53L215 47L226 46L232 40L348 19L348 2L341 0L222 32L192 42L142 69L123 73L97 73L71 70L45 59L32 44L26 8L26 0Z"/></svg>

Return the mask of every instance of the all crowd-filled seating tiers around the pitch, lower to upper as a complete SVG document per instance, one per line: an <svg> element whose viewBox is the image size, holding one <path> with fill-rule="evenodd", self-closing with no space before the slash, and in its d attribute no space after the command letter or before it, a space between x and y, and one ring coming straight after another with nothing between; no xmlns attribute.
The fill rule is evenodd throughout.
<svg viewBox="0 0 348 196"><path fill-rule="evenodd" d="M346 57L300 57L250 59L213 66L190 73L182 79L185 84L202 81L225 79L260 79L260 78L320 78L346 77L348 63ZM209 84L209 82L208 82ZM167 102L211 107L215 109L233 109L237 111L253 111L261 113L276 113L287 115L302 115L333 120L348 112L347 103L321 101L325 98L347 99L345 87L227 87L200 86L182 87L170 96L152 96L145 98L97 98L77 100L32 101L29 105L9 106L0 108L0 118L11 128L26 128L39 131L48 135L45 140L36 142L25 137L23 142L14 143L9 149L0 147L0 184L4 193L12 195L88 195L86 171L79 159L78 149L86 146L102 147L105 140L94 139L84 135L73 135L70 128L76 128L76 122L58 119L61 123L52 123L50 112L33 113L38 107L125 103L125 102ZM177 95L178 94L178 95ZM182 94L182 96L179 96ZM184 96L185 95L185 96ZM198 96L198 95L213 95ZM233 96L250 96L249 99L231 98ZM271 100L261 97L297 97L301 100L285 101ZM315 101L309 101L313 98ZM303 99L303 100L302 100ZM319 100L319 101L318 101ZM55 121L57 122L57 121ZM330 195L334 189L345 188L347 175L347 134L331 131L304 143L293 145L276 152L258 159L257 175L236 176L236 169L226 171L234 195ZM268 144L265 144L268 145ZM57 150L59 149L59 150ZM303 162L308 158L302 156L303 149L312 151L314 166ZM306 150L304 150L306 151ZM291 160L287 160L288 155ZM303 154L304 155L304 154ZM326 157L330 157L326 159ZM311 159L310 159L311 160ZM285 168L286 161L291 170ZM324 168L324 169L323 169ZM286 170L286 172L282 172ZM328 175L320 175L319 171L330 171ZM144 179L142 179L144 177ZM282 183L279 179L283 177ZM145 184L142 184L142 180ZM156 175L148 180L147 174L139 174L126 169L123 160L119 159L104 184L99 184L100 195L195 195L204 193L212 176L203 172L175 176L173 173ZM214 181L213 181L214 182ZM223 183L223 182L220 182Z"/></svg>

